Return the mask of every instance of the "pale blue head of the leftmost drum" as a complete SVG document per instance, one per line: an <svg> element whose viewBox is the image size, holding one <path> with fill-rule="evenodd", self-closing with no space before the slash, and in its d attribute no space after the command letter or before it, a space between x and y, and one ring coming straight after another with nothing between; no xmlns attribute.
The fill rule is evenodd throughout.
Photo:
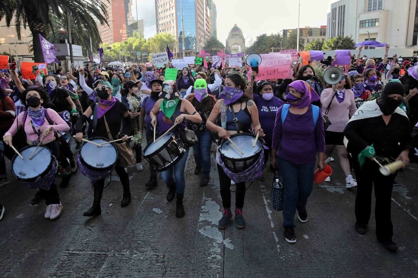
<svg viewBox="0 0 418 278"><path fill-rule="evenodd" d="M47 147L39 146L32 159L29 160L35 149L36 146L27 146L20 150L23 160L18 155L13 157L12 172L16 178L29 180L42 175L50 167L52 153Z"/></svg>

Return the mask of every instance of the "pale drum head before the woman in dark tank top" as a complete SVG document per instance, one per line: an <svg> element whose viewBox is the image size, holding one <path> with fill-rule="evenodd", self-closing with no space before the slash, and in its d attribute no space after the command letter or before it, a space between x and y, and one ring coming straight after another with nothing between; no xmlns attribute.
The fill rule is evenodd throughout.
<svg viewBox="0 0 418 278"><path fill-rule="evenodd" d="M242 155L229 140L224 141L220 147L220 153L230 159L242 159L249 158L258 154L263 148L263 144L257 140L255 147L253 147L255 136L252 135L232 135L232 142L238 146L238 148L244 153Z"/></svg>

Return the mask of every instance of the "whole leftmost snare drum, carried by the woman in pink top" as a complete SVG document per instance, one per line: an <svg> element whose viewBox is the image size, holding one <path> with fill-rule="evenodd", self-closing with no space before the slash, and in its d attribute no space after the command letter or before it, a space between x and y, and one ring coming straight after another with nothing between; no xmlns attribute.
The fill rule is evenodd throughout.
<svg viewBox="0 0 418 278"><path fill-rule="evenodd" d="M20 150L23 160L16 154L12 159L11 172L17 180L23 181L29 188L48 190L58 171L57 159L45 146L39 146L32 159L36 146L26 146Z"/></svg>

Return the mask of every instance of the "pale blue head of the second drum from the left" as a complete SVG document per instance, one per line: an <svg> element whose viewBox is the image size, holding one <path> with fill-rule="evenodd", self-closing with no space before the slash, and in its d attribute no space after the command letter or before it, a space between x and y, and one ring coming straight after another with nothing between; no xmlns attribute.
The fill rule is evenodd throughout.
<svg viewBox="0 0 418 278"><path fill-rule="evenodd" d="M106 139L88 139L97 144L108 142ZM105 144L101 147L91 143L84 143L80 149L80 157L84 163L94 168L112 167L118 160L118 151L113 144Z"/></svg>

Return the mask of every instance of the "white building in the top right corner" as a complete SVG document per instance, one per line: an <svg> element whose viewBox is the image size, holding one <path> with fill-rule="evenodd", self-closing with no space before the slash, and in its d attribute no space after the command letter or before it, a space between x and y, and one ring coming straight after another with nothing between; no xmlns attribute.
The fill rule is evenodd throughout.
<svg viewBox="0 0 418 278"><path fill-rule="evenodd" d="M374 40L391 49L418 52L417 0L339 0L328 13L327 38L352 36L356 43ZM398 53L398 55L399 55Z"/></svg>

